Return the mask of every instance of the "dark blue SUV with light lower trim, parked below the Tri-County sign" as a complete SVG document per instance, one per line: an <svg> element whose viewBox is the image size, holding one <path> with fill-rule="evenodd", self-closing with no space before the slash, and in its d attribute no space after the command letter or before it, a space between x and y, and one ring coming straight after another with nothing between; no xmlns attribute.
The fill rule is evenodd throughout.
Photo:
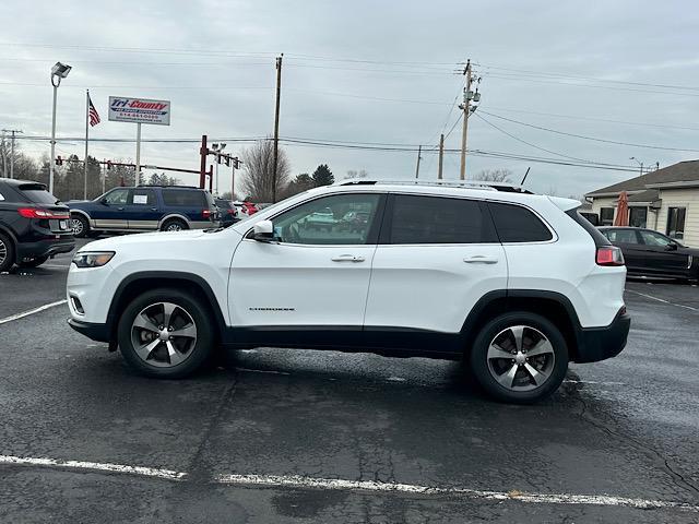
<svg viewBox="0 0 699 524"><path fill-rule="evenodd" d="M208 191L183 186L115 188L88 201L71 201L76 237L100 231L178 231L218 226Z"/></svg>

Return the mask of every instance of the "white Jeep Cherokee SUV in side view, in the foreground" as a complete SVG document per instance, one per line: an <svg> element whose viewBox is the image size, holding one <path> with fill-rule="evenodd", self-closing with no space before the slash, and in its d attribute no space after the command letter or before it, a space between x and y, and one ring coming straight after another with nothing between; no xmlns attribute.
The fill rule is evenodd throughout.
<svg viewBox="0 0 699 524"><path fill-rule="evenodd" d="M69 322L152 377L188 376L221 346L364 350L463 359L495 397L533 402L629 331L621 252L578 205L487 182L345 181L227 229L88 243Z"/></svg>

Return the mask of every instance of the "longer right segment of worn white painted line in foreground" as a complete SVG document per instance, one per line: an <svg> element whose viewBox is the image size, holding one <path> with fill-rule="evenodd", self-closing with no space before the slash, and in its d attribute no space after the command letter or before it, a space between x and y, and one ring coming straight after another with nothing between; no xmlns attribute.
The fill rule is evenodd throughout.
<svg viewBox="0 0 699 524"><path fill-rule="evenodd" d="M221 484L237 486L264 486L270 488L294 487L332 490L388 491L413 495L455 496L469 499L517 500L520 502L545 504L583 504L583 505L626 505L631 508L682 508L699 512L699 507L683 502L670 502L650 499L629 499L606 495L567 495L567 493L526 493L518 490L488 491L469 488L436 488L415 486L412 484L377 483L374 480L342 480L339 478L313 478L299 475L220 475Z"/></svg>

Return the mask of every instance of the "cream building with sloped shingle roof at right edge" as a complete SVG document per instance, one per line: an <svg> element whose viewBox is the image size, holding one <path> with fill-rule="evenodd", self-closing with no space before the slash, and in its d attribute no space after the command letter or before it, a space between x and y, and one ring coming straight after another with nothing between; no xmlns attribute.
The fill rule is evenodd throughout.
<svg viewBox="0 0 699 524"><path fill-rule="evenodd" d="M630 226L699 246L699 160L680 162L585 194L601 226L614 223L621 191L629 195Z"/></svg>

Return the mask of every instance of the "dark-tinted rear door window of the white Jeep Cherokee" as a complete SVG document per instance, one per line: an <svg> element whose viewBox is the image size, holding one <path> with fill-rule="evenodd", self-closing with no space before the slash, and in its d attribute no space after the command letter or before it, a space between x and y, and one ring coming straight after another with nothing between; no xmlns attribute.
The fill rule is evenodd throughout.
<svg viewBox="0 0 699 524"><path fill-rule="evenodd" d="M497 242L493 223L478 201L396 194L389 243Z"/></svg>

